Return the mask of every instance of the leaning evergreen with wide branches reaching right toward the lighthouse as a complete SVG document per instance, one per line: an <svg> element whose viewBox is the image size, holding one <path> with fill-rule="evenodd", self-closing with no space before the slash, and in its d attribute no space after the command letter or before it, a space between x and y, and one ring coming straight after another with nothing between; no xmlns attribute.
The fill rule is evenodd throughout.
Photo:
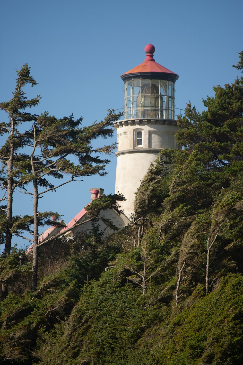
<svg viewBox="0 0 243 365"><path fill-rule="evenodd" d="M98 153L110 154L114 145L94 148L91 142L99 137L111 137L113 135L112 123L118 118L119 115L109 110L105 120L89 127L81 127L82 118L75 120L71 115L69 118L57 119L45 113L36 119L29 131L23 134L26 145L31 147L32 151L30 158L18 162L17 168L22 174L21 188L34 198L33 290L37 287L39 222L43 217L48 216L48 214L41 214L38 211L39 198L44 193L55 191L71 181L83 181L84 176L94 174L104 176L106 174L105 165L110 161L100 158ZM78 164L69 158L72 161L78 161ZM53 185L49 180L50 177L52 177L52 181L67 178L61 184ZM24 187L30 182L33 184L33 192L27 191ZM30 217L27 217L27 221L29 219Z"/></svg>

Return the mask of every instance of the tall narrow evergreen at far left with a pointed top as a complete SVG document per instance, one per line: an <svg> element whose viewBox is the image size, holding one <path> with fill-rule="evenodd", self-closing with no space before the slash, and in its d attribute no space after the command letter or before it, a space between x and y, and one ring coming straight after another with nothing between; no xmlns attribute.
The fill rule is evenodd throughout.
<svg viewBox="0 0 243 365"><path fill-rule="evenodd" d="M1 188L4 191L1 200L7 199L6 206L6 220L4 224L5 231L5 254L10 253L11 239L12 239L12 207L13 207L13 191L19 185L19 173L15 171L15 162L26 158L24 153L20 153L20 148L23 147L23 140L20 137L18 127L24 122L35 121L37 115L32 115L26 112L26 109L34 107L39 104L40 96L28 100L23 89L30 84L32 87L38 83L30 76L30 67L25 64L17 71L16 88L13 92L13 97L4 103L0 103L0 110L8 113L9 122L0 123L0 135L8 133L8 139L0 149L0 161L5 170L1 175ZM7 195L6 195L7 193ZM1 209L5 209L1 207Z"/></svg>

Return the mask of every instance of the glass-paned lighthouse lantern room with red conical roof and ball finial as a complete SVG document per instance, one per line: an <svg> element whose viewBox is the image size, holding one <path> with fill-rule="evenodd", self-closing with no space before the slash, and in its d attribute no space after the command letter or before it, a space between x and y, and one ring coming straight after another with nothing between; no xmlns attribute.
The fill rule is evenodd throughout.
<svg viewBox="0 0 243 365"><path fill-rule="evenodd" d="M124 119L175 119L176 73L153 58L155 47L145 46L145 61L122 74L125 103Z"/></svg>

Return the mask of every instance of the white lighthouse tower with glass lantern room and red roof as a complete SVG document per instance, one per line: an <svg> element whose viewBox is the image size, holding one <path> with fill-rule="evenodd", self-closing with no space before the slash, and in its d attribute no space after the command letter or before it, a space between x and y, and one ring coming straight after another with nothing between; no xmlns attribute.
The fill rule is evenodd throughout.
<svg viewBox="0 0 243 365"><path fill-rule="evenodd" d="M126 197L122 208L129 217L134 212L135 192L163 148L181 148L175 140L179 129L175 120L176 73L154 61L155 48L145 46L145 61L122 74L125 84L124 120L117 130L117 170L115 193Z"/></svg>

